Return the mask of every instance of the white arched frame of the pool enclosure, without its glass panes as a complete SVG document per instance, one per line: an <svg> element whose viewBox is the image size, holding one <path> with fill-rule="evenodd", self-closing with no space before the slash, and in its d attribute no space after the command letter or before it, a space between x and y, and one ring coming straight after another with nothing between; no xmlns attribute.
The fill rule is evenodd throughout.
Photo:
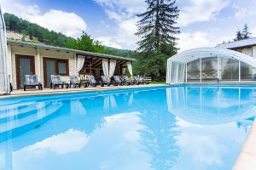
<svg viewBox="0 0 256 170"><path fill-rule="evenodd" d="M171 58L167 59L167 67L166 67L166 84L181 84L184 83L185 77L185 65L190 61L195 59L203 59L209 57L217 57L217 58L229 58L229 59L236 59L247 65L251 65L256 67L256 59L253 57L248 56L247 54L241 54L234 50L224 49L224 48L193 48L186 51L183 51L180 54L173 55ZM177 75L175 75L175 79L173 80L172 77L172 63L177 64ZM179 66L182 66L181 70L179 70ZM240 67L239 67L240 70ZM239 71L240 74L240 71ZM178 78L179 77L179 78ZM239 81L240 80L239 76Z"/></svg>

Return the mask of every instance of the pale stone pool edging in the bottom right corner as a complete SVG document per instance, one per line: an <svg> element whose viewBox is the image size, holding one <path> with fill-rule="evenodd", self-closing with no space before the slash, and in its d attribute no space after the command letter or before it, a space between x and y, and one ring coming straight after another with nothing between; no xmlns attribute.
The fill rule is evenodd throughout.
<svg viewBox="0 0 256 170"><path fill-rule="evenodd" d="M236 158L233 170L255 170L256 169L256 122L253 122L247 139L242 145L239 156Z"/></svg>

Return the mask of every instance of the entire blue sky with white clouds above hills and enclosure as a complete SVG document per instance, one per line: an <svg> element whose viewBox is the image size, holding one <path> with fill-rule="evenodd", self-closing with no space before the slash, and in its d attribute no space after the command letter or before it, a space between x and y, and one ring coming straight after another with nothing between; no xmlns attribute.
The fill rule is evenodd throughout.
<svg viewBox="0 0 256 170"><path fill-rule="evenodd" d="M137 14L144 0L0 0L3 11L71 37L87 32L104 45L136 49ZM177 48L215 47L232 41L247 23L256 37L255 0L177 0Z"/></svg>

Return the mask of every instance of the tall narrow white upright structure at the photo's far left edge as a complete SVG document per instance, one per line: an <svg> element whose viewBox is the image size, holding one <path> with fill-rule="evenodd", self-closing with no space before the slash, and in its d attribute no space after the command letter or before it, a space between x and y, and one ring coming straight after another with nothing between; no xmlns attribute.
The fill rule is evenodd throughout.
<svg viewBox="0 0 256 170"><path fill-rule="evenodd" d="M9 94L9 71L7 65L7 40L6 40L6 28L3 20L2 8L0 7L0 94Z"/></svg>

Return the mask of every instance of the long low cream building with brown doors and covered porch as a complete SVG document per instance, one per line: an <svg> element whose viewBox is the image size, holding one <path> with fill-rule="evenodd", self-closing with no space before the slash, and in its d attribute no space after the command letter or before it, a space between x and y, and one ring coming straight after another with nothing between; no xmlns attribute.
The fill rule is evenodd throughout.
<svg viewBox="0 0 256 170"><path fill-rule="evenodd" d="M121 75L126 63L136 60L13 40L8 41L8 55L9 78L14 89L23 87L27 74L38 75L39 82L49 87L50 75L61 75L64 82L69 82L70 75L94 75L99 78L104 74L102 59L116 60L114 75ZM78 56L84 57L84 65L79 71Z"/></svg>

